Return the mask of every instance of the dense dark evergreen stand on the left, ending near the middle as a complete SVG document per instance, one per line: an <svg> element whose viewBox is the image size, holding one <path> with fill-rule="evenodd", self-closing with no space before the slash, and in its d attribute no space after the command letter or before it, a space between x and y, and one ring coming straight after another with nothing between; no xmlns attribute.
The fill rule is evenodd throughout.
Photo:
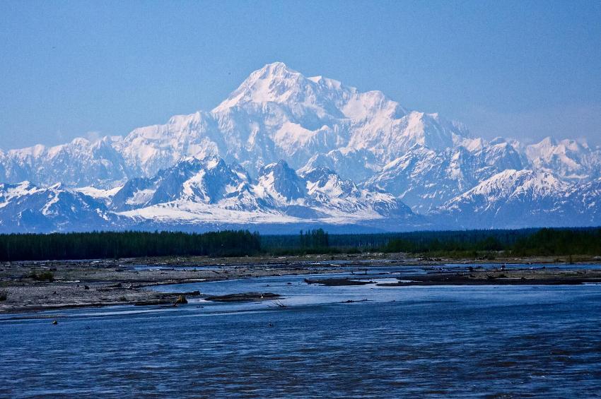
<svg viewBox="0 0 601 399"><path fill-rule="evenodd" d="M134 258L143 256L245 256L261 251L248 231L87 232L0 234L0 261Z"/></svg>

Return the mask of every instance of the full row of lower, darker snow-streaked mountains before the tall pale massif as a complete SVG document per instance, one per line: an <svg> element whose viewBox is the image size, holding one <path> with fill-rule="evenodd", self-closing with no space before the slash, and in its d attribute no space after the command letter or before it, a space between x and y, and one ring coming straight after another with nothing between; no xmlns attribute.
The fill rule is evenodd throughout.
<svg viewBox="0 0 601 399"><path fill-rule="evenodd" d="M568 219L590 225L600 221L595 205L600 187L597 180L570 189L547 172L510 169L448 201L427 219L392 194L359 187L325 167L298 174L279 161L266 165L252 180L238 164L227 165L212 156L189 157L154 177L131 179L110 191L65 189L59 184L45 189L26 181L0 185L0 231L259 225L414 230L560 225Z"/></svg>

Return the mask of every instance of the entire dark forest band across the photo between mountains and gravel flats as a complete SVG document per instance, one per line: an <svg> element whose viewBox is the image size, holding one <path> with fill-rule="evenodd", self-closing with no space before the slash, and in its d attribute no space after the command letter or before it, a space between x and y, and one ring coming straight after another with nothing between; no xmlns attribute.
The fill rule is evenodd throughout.
<svg viewBox="0 0 601 399"><path fill-rule="evenodd" d="M599 260L601 228L470 230L386 234L329 234L322 229L289 235L245 230L183 232L85 232L0 234L0 261L141 258L156 256L299 256L406 253L476 260L563 256ZM248 258L245 258L247 261ZM559 261L559 258L555 258Z"/></svg>

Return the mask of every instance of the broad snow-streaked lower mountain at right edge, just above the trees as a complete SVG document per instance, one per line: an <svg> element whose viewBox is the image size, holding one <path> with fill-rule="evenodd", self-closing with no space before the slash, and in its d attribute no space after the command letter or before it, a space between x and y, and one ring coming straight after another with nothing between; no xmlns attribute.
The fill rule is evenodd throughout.
<svg viewBox="0 0 601 399"><path fill-rule="evenodd" d="M549 172L506 170L440 206L465 228L601 225L601 179L571 186Z"/></svg>

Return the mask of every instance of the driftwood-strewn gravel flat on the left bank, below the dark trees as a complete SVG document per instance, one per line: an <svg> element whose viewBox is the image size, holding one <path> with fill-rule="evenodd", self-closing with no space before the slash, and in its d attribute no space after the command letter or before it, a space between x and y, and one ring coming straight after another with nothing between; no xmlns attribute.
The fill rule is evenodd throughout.
<svg viewBox="0 0 601 399"><path fill-rule="evenodd" d="M270 275L330 273L306 262L249 262L240 258L145 258L0 264L0 313L86 306L177 304L201 292L163 293L157 285Z"/></svg>

